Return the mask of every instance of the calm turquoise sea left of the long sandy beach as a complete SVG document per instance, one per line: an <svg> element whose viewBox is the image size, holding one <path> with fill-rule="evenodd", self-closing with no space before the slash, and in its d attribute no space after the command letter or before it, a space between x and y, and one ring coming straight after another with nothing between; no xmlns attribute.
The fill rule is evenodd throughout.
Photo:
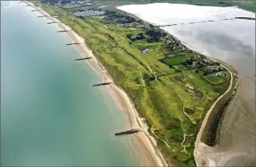
<svg viewBox="0 0 256 167"><path fill-rule="evenodd" d="M24 6L1 1L1 166L136 166L99 76Z"/></svg>

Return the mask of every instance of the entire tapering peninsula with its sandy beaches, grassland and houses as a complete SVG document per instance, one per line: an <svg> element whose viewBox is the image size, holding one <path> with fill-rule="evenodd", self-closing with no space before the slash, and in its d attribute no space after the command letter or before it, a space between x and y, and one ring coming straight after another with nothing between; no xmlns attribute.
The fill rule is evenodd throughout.
<svg viewBox="0 0 256 167"><path fill-rule="evenodd" d="M194 149L201 126L207 131L200 131L199 139L215 145L216 126L237 88L229 66L114 6L89 1L75 6L65 1L32 3L35 11L64 29L83 59L88 58L102 76L129 116L130 129L141 129L132 135L143 141L152 166L196 166ZM210 114L207 124L204 118Z"/></svg>

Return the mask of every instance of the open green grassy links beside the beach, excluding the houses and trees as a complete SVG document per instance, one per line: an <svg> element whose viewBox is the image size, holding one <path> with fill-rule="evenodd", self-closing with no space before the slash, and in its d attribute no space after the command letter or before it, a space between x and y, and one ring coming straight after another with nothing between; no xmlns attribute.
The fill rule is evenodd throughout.
<svg viewBox="0 0 256 167"><path fill-rule="evenodd" d="M127 92L139 114L146 119L149 131L167 142L169 147L156 138L167 161L172 161L174 166L195 166L195 138L207 109L220 96L212 84L202 79L203 71L196 73L195 69L189 70L180 64L196 53L164 59L163 42L140 40L129 44L127 34L144 32L141 28L102 24L100 16L80 19L69 12L64 16L60 6L33 3L59 16L84 38L114 83ZM145 47L149 47L149 51L142 55L141 49ZM177 68L184 71L176 73L166 64L177 64ZM186 85L194 89L189 90ZM186 140L182 144L184 136Z"/></svg>

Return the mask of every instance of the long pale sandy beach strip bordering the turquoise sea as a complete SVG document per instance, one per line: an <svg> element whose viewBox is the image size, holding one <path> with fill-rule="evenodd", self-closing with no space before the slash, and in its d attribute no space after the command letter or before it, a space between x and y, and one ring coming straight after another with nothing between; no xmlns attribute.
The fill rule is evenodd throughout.
<svg viewBox="0 0 256 167"><path fill-rule="evenodd" d="M104 69L104 66L102 66L101 62L96 58L96 56L92 54L92 51L89 49L81 36L79 36L69 26L59 21L59 19L54 18L54 16L51 16L40 7L34 6L34 4L30 1L23 2L32 5L31 7L34 9L40 9L39 13L47 15L46 19L58 21L58 26L61 29L70 30L65 33L70 39L72 39L72 41L81 43L75 46L75 48L80 52L81 56L83 58L92 57L92 59L87 60L87 64L91 67L91 69L101 77L102 81L113 81L112 77L109 76L107 70ZM157 149L157 142L152 136L149 135L149 132L147 131L147 124L144 123L143 118L139 117L139 114L134 108L132 101L127 96L127 93L125 93L122 88L119 88L114 83L105 87L107 88L107 92L112 96L112 98L114 98L114 101L117 103L119 108L121 108L126 114L128 121L127 128L142 128L142 133L135 133L133 137L137 143L139 143L139 146L142 148L142 152L147 157L147 161L149 161L147 166L168 166L164 156L162 156L162 153L160 153Z"/></svg>

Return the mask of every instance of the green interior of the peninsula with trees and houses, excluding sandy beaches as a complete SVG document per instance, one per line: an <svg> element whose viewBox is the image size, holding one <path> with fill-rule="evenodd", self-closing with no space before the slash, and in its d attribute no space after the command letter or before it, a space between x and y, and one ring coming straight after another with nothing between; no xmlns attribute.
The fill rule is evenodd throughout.
<svg viewBox="0 0 256 167"><path fill-rule="evenodd" d="M104 18L78 18L70 8L33 3L84 38L114 83L127 92L146 119L149 131L166 141L168 146L156 138L167 161L175 166L195 166L195 138L208 108L229 86L227 71L182 46L170 34L117 9L107 9ZM146 48L147 54L142 54Z"/></svg>

